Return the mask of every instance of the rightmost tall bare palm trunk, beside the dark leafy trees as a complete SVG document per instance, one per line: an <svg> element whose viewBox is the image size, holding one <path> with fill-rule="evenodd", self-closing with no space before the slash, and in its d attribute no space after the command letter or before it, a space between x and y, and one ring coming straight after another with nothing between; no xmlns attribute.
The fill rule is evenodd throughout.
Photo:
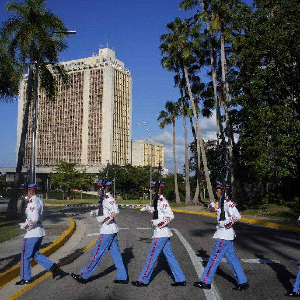
<svg viewBox="0 0 300 300"><path fill-rule="evenodd" d="M226 130L227 130L227 139L228 139L228 148L229 148L229 166L230 166L230 176L231 176L231 192L232 192L232 201L236 202L236 190L235 190L235 176L234 176L234 161L232 153L232 141L230 134L230 125L229 125L229 114L228 114L228 95L226 87L226 76L225 76L225 46L224 46L224 19L221 19L221 65L222 65L222 85L223 85L223 101L225 109L225 121L226 121ZM228 85L228 83L227 83Z"/></svg>

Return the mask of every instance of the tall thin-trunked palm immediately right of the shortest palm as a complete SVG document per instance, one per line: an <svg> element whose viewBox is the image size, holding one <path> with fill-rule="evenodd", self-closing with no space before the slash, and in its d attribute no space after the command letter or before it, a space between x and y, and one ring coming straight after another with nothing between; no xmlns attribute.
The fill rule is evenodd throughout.
<svg viewBox="0 0 300 300"><path fill-rule="evenodd" d="M175 71L176 76L174 77L175 86L179 85L180 91L180 104L182 111L182 121L183 121L183 131L184 131L184 149L185 149L185 203L190 204L190 167L189 167L189 156L188 156L188 142L187 142L187 126L184 114L184 98L183 98L183 85L182 78L179 69L179 59L174 53L169 52L169 43L172 42L173 35L162 35L161 41L163 43L160 45L161 55L166 54L161 59L161 65L163 68L166 68L169 72ZM171 39L171 40L170 40Z"/></svg>

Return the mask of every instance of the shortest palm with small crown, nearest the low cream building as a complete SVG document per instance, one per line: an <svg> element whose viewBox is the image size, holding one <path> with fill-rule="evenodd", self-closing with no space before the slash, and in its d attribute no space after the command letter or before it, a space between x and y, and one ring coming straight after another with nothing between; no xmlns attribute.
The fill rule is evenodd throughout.
<svg viewBox="0 0 300 300"><path fill-rule="evenodd" d="M168 124L172 124L172 136L173 136L173 161L174 161L174 184L175 184L175 195L176 203L180 203L178 183L177 183L177 169L176 169L176 151L175 151L175 119L180 116L179 113L179 103L167 101L165 104L165 110L161 110L157 120L161 121L159 123L159 128L164 129Z"/></svg>

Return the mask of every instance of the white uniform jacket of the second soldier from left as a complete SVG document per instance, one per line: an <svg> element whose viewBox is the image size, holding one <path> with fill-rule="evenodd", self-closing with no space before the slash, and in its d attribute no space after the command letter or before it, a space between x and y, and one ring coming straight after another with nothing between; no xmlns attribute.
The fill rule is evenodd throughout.
<svg viewBox="0 0 300 300"><path fill-rule="evenodd" d="M115 221L115 217L120 211L111 193L107 193L103 197L102 206L103 216L97 217L98 222L101 224L99 234L113 234L119 232L119 227ZM95 211L96 216L98 215L98 210L99 209Z"/></svg>

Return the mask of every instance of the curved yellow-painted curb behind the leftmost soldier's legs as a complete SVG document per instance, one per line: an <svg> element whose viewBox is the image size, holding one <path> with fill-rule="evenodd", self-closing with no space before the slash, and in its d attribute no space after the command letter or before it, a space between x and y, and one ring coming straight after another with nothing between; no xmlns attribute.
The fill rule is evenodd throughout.
<svg viewBox="0 0 300 300"><path fill-rule="evenodd" d="M51 255L72 236L76 229L76 224L72 217L67 217L70 219L71 222L69 228L61 236L59 236L52 244L42 249L40 253L44 254L45 256ZM32 267L37 264L37 262L33 259L31 259L30 262ZM16 265L6 270L4 273L0 274L0 288L20 275L20 265L20 262L18 262Z"/></svg>

